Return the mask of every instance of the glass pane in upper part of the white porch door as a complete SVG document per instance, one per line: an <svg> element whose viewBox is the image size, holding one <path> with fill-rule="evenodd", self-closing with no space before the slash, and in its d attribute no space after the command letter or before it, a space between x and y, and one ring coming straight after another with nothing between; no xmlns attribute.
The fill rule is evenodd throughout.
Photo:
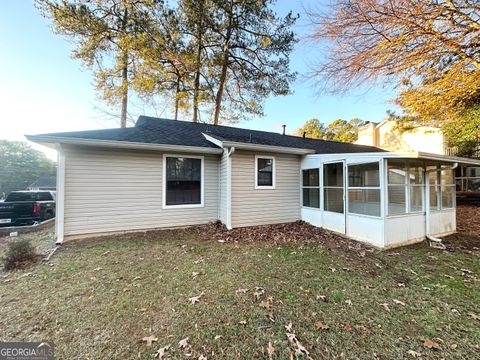
<svg viewBox="0 0 480 360"><path fill-rule="evenodd" d="M323 208L343 214L343 162L323 165Z"/></svg>

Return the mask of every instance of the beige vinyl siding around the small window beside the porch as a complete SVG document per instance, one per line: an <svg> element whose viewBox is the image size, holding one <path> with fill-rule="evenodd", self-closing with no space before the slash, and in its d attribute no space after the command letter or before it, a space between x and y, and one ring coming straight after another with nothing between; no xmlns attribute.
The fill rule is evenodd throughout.
<svg viewBox="0 0 480 360"><path fill-rule="evenodd" d="M275 157L275 189L255 189L255 155ZM300 157L236 151L232 155L232 227L300 219Z"/></svg>

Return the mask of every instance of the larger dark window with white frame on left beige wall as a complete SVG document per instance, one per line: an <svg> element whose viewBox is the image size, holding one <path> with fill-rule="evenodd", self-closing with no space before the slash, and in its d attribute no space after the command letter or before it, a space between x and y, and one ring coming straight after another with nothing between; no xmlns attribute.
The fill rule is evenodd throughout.
<svg viewBox="0 0 480 360"><path fill-rule="evenodd" d="M203 206L203 158L164 156L164 205Z"/></svg>

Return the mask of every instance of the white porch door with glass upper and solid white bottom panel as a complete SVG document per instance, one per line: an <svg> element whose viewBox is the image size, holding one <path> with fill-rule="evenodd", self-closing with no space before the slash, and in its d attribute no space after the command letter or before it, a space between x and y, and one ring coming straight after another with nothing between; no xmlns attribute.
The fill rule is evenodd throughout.
<svg viewBox="0 0 480 360"><path fill-rule="evenodd" d="M346 234L345 160L323 164L323 226Z"/></svg>

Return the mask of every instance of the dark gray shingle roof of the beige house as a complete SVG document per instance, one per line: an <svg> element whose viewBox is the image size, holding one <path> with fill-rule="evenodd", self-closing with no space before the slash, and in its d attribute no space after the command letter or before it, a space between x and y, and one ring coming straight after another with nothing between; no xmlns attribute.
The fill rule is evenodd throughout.
<svg viewBox="0 0 480 360"><path fill-rule="evenodd" d="M310 149L318 154L384 151L373 146L303 139L298 136L282 135L266 131L160 119L148 116L140 116L136 125L130 128L75 131L43 134L42 136L218 148L215 144L206 140L202 133L223 141Z"/></svg>

